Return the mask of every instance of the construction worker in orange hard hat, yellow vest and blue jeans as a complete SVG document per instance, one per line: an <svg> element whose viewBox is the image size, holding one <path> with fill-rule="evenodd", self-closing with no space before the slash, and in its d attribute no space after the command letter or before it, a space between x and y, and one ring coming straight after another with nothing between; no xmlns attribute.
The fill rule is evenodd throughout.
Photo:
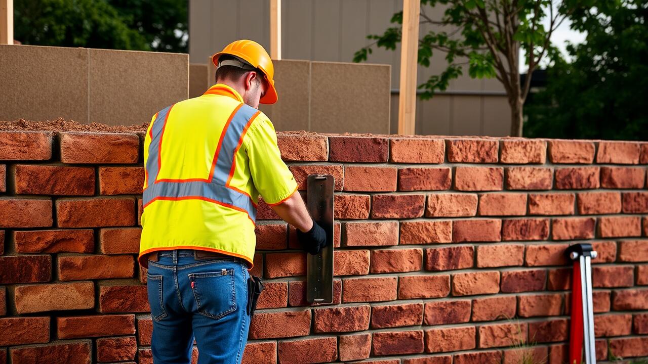
<svg viewBox="0 0 648 364"><path fill-rule="evenodd" d="M138 260L148 267L155 364L190 363L194 337L198 363L240 363L259 194L308 253L327 244L257 110L277 102L270 56L238 40L213 62L216 85L159 111L144 142Z"/></svg>

